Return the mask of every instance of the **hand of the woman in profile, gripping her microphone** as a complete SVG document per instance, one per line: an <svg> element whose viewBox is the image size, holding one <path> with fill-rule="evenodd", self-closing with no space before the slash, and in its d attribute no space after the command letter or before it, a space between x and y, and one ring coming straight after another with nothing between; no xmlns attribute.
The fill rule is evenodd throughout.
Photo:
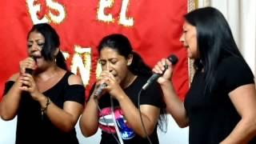
<svg viewBox="0 0 256 144"><path fill-rule="evenodd" d="M167 69L165 68L165 65L167 65ZM165 70L166 69L166 70ZM172 76L172 64L169 60L166 58L162 58L161 61L159 61L152 70L155 74L162 74L161 77L158 78L158 83L164 83L167 81L170 81L170 78Z"/></svg>

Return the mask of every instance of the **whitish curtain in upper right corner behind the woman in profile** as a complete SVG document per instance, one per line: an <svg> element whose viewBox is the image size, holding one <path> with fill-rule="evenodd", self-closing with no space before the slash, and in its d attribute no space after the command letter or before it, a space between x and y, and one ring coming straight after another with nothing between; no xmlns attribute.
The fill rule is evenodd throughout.
<svg viewBox="0 0 256 144"><path fill-rule="evenodd" d="M206 0L200 0L206 1ZM228 20L239 50L256 74L256 1L208 0Z"/></svg>

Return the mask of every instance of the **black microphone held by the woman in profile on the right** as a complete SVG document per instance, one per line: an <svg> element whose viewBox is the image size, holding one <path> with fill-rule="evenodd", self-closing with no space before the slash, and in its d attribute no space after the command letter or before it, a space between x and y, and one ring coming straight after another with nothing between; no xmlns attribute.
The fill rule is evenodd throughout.
<svg viewBox="0 0 256 144"><path fill-rule="evenodd" d="M175 65L178 62L178 58L174 54L170 54L168 57L168 60L172 63L172 65ZM165 73L167 70L168 66L165 64L165 70L162 71L162 74ZM146 90L148 86L151 85L151 83L155 82L159 77L162 76L162 74L153 74L147 81L144 86L142 86L142 90Z"/></svg>

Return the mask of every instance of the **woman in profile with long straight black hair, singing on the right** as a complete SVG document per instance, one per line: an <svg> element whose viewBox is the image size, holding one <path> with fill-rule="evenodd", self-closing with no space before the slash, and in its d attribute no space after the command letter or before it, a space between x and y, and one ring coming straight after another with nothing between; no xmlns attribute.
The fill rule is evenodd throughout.
<svg viewBox="0 0 256 144"><path fill-rule="evenodd" d="M195 74L185 102L170 82L171 63L163 58L154 66L166 109L178 126L190 126L189 142L256 143L256 92L254 75L234 42L224 16L212 7L185 15L180 38Z"/></svg>

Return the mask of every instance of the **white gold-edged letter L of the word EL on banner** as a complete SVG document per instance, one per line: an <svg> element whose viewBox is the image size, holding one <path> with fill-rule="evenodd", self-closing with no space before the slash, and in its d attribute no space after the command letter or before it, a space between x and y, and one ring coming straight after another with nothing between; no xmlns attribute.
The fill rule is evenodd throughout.
<svg viewBox="0 0 256 144"><path fill-rule="evenodd" d="M134 18L126 18L128 5L129 5L129 0L122 1L122 8L120 12L119 23L124 26L134 26Z"/></svg>

